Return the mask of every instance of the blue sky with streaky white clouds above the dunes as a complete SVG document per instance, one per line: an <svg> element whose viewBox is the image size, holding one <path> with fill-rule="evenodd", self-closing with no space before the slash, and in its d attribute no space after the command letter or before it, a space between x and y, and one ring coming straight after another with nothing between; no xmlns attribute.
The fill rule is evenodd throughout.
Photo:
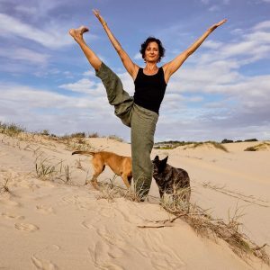
<svg viewBox="0 0 270 270"><path fill-rule="evenodd" d="M58 135L85 131L130 141L68 29L134 86L92 9L99 9L130 58L149 35L162 40L161 65L211 33L172 76L155 141L270 139L270 0L0 0L0 121Z"/></svg>

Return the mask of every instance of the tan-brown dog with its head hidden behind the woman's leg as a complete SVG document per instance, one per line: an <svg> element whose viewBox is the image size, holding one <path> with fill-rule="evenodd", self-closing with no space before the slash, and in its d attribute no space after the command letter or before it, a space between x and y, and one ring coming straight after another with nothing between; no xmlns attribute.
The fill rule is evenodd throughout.
<svg viewBox="0 0 270 270"><path fill-rule="evenodd" d="M72 153L72 155L75 154L93 156L92 164L94 166L94 175L91 182L95 188L97 188L97 176L103 172L106 165L110 166L115 175L120 175L127 188L130 188L132 178L132 165L130 157L123 157L112 152L105 151L75 151Z"/></svg>

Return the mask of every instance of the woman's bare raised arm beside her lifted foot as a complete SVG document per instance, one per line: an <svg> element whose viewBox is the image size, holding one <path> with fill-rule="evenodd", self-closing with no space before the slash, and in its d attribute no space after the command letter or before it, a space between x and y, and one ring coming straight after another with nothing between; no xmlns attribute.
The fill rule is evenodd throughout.
<svg viewBox="0 0 270 270"><path fill-rule="evenodd" d="M114 49L117 51L118 55L120 56L124 67L127 69L130 76L132 76L133 80L135 80L138 70L139 70L139 66L133 63L130 56L125 52L124 49L121 48L121 44L113 36L112 31L109 29L108 24L104 21L99 11L93 10L93 12L94 12L95 17L103 25L103 29L107 33L109 40L112 42L112 46L114 47Z"/></svg>

